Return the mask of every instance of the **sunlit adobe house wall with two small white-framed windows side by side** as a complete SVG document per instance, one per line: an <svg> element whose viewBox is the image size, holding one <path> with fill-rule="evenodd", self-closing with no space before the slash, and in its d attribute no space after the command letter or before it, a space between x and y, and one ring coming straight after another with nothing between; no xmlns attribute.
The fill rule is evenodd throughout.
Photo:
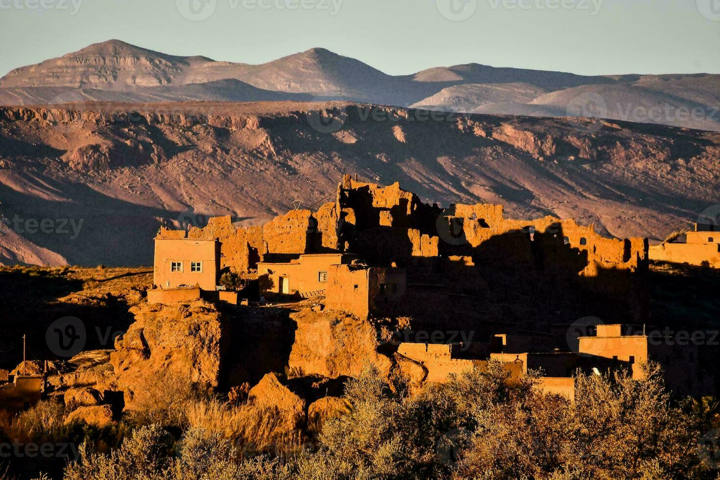
<svg viewBox="0 0 720 480"><path fill-rule="evenodd" d="M184 232L181 232L184 234ZM215 291L217 285L217 249L215 240L195 240L174 237L176 232L161 230L155 239L153 284L173 289L181 285L199 285L203 290ZM194 272L191 262L202 261L202 271ZM181 271L171 271L171 263L181 263Z"/></svg>

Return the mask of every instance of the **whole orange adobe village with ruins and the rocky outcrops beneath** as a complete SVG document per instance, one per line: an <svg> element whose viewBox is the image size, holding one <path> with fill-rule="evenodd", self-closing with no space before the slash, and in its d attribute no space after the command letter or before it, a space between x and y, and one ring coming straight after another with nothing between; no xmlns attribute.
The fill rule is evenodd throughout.
<svg viewBox="0 0 720 480"><path fill-rule="evenodd" d="M132 410L148 379L173 375L302 425L338 407L344 379L368 363L419 391L491 360L510 381L541 371L536 388L571 402L577 371L641 378L649 360L675 394L717 391L713 343L649 323L649 252L719 266L711 225L651 249L572 219L506 219L502 205L442 209L348 175L335 196L261 226L161 227L153 287L114 340L112 368L4 371L0 395L22 407L64 391L73 419L101 425Z"/></svg>

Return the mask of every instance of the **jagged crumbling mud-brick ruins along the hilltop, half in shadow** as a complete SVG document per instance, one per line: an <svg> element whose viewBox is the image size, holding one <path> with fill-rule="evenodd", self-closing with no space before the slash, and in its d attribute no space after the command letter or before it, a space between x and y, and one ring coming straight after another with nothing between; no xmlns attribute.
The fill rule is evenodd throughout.
<svg viewBox="0 0 720 480"><path fill-rule="evenodd" d="M237 271L255 269L267 254L329 252L355 253L369 267L405 268L405 302L418 303L418 312L408 314L429 312L432 299L438 322L523 317L542 327L588 315L647 320L646 239L605 238L572 219L508 219L502 205L441 209L397 183L345 176L335 201L316 212L293 210L247 228L221 217L189 237L218 238L220 268ZM468 313L467 304L480 307Z"/></svg>

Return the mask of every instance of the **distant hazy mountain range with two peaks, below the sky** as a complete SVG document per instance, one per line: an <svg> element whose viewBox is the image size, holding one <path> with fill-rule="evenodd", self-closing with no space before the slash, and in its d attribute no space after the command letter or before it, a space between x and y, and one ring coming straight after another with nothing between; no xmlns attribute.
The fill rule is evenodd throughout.
<svg viewBox="0 0 720 480"><path fill-rule="evenodd" d="M469 63L390 76L323 48L248 65L109 40L0 78L5 105L310 99L720 131L720 76L706 73L580 76Z"/></svg>

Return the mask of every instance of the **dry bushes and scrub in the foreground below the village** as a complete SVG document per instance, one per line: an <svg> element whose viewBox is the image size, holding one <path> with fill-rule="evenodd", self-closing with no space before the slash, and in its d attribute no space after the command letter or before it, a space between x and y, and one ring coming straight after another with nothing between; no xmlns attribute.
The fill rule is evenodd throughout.
<svg viewBox="0 0 720 480"><path fill-rule="evenodd" d="M414 395L366 366L346 384L348 408L317 434L288 432L251 399L230 404L177 386L112 431L63 425L52 402L2 429L5 438L76 438L77 458L58 475L68 480L720 478L719 403L672 399L660 368L644 368L642 380L577 373L570 402L535 389L535 374L510 381L498 363Z"/></svg>

